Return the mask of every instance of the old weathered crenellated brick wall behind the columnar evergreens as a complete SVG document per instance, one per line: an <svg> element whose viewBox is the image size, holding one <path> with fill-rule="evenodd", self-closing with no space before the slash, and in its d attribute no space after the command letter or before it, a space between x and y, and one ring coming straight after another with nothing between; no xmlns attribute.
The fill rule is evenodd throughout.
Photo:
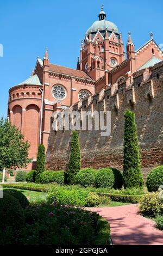
<svg viewBox="0 0 163 256"><path fill-rule="evenodd" d="M135 112L146 176L153 167L163 164L163 63L133 74L133 82L122 81L102 89L92 97L78 102L72 109L111 111L111 135L101 131L79 131L82 167L111 166L123 169L124 111ZM47 169L66 169L71 145L71 131L51 131L48 140Z"/></svg>

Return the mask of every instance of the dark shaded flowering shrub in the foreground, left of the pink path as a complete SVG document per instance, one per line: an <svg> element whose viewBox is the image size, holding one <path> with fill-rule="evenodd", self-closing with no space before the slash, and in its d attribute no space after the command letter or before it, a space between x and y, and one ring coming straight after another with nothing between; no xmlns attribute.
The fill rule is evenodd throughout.
<svg viewBox="0 0 163 256"><path fill-rule="evenodd" d="M17 243L22 245L108 245L107 221L95 212L60 204L33 205Z"/></svg>

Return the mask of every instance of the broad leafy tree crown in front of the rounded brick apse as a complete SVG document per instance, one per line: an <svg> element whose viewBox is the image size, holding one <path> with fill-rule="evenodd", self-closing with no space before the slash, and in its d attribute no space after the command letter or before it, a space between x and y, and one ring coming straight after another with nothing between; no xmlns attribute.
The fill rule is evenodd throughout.
<svg viewBox="0 0 163 256"><path fill-rule="evenodd" d="M27 167L30 144L7 119L0 119L0 170Z"/></svg>

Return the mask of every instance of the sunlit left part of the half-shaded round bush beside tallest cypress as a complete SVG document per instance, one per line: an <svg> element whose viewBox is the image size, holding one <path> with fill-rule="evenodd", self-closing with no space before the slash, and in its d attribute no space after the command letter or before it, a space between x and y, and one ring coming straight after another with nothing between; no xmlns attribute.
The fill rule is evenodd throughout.
<svg viewBox="0 0 163 256"><path fill-rule="evenodd" d="M114 187L115 177L112 169L103 168L98 170L96 175L96 187L106 187L112 188Z"/></svg>

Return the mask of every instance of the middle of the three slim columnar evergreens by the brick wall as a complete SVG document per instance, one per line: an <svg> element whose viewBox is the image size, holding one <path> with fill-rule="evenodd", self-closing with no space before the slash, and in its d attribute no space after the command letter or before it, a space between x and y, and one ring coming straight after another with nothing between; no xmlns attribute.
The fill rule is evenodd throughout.
<svg viewBox="0 0 163 256"><path fill-rule="evenodd" d="M72 141L71 141L71 153L70 153L70 161L68 166L68 175L67 175L67 183L73 183L75 179L75 175L79 172L81 167L81 157L80 157L80 144L78 132L72 132Z"/></svg>

